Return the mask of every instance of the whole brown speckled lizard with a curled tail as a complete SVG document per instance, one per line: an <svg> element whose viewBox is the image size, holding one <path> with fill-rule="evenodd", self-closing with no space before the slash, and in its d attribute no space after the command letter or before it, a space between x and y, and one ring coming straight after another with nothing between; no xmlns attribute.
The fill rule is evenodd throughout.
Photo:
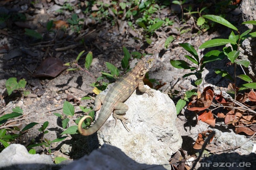
<svg viewBox="0 0 256 170"><path fill-rule="evenodd" d="M144 87L143 78L156 60L157 57L155 55L146 55L128 73L117 79L106 95L98 94L95 98L93 109L94 111L99 111L101 108L98 119L96 119L96 122L92 126L83 129L82 123L84 120L89 118L93 122L93 118L89 115L82 117L78 123L79 133L83 136L89 136L95 133L107 121L112 112L114 119L116 121L119 119L129 132L130 130L126 126L128 119L124 117L125 112L128 111L128 106L123 102L131 96L136 88L140 92L148 94L148 97L154 96L153 91Z"/></svg>

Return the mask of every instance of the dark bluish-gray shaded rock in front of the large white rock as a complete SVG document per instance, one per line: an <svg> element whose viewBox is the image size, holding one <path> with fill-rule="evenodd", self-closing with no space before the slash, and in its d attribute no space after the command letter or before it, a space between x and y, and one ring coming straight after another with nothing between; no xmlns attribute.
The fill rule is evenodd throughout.
<svg viewBox="0 0 256 170"><path fill-rule="evenodd" d="M162 165L139 164L119 148L104 144L89 156L73 161L61 170L166 170Z"/></svg>

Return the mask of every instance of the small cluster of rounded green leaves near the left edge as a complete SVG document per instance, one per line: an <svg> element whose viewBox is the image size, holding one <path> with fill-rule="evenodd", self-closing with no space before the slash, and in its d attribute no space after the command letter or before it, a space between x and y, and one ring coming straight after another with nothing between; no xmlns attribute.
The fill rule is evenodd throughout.
<svg viewBox="0 0 256 170"><path fill-rule="evenodd" d="M25 79L20 79L19 82L17 82L16 77L11 77L6 80L6 89L8 95L12 94L13 91L18 90L18 91L23 91L23 94L26 96L30 92L25 90L26 86L26 80Z"/></svg>

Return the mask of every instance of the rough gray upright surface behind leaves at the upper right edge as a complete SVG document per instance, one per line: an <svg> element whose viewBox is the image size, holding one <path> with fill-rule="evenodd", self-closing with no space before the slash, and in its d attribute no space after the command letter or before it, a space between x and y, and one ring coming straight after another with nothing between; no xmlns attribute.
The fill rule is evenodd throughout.
<svg viewBox="0 0 256 170"><path fill-rule="evenodd" d="M256 20L256 0L243 0L241 2L241 12L242 12L242 18L241 22L244 21L250 21L250 20ZM251 24L246 24L241 26L243 33L244 31L248 29L253 29L255 26ZM255 29L254 29L255 31ZM252 32L254 32L252 31ZM241 45L241 56L243 60L249 60L250 65L248 68L245 68L245 71L249 74L251 79L253 79L253 82L256 82L256 38L247 38L242 42Z"/></svg>

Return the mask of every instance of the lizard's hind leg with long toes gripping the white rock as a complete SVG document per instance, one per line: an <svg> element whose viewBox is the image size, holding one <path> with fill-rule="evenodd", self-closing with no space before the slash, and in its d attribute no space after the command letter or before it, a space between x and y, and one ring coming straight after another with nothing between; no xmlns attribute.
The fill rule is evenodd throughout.
<svg viewBox="0 0 256 170"><path fill-rule="evenodd" d="M122 102L116 102L116 104L114 105L113 118L115 118L116 120L119 119L122 122L122 124L124 125L125 129L128 132L130 132L130 130L126 126L128 119L124 117L125 112L127 112L127 111L128 111L127 105L125 105ZM115 123L115 126L116 126L116 123Z"/></svg>

